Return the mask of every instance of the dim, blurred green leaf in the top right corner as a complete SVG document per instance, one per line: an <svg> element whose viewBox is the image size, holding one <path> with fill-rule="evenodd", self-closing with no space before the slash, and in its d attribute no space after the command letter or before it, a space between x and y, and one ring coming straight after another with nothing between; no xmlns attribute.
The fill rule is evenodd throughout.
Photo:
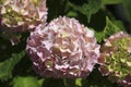
<svg viewBox="0 0 131 87"><path fill-rule="evenodd" d="M128 18L131 22L131 0L124 0L123 7L124 7Z"/></svg>

